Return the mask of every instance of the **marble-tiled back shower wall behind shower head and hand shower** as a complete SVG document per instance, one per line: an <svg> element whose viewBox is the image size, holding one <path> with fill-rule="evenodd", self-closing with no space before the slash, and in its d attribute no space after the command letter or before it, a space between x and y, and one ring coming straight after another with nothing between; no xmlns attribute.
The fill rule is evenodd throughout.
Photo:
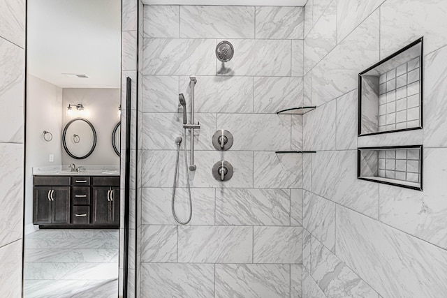
<svg viewBox="0 0 447 298"><path fill-rule="evenodd" d="M301 7L144 6L141 297L301 297L302 156L274 151L302 148L302 116L276 112L302 104L303 21ZM225 66L221 40L235 48ZM201 128L182 226L171 194L189 75ZM218 129L233 133L229 151L212 147ZM224 184L211 173L221 159L235 169Z"/></svg>

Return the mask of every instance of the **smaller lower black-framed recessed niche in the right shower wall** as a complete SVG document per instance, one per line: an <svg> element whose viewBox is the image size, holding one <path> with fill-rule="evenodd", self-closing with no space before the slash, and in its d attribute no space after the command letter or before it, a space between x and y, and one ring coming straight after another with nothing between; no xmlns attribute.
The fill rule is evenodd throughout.
<svg viewBox="0 0 447 298"><path fill-rule="evenodd" d="M422 145L358 148L358 179L422 191Z"/></svg>

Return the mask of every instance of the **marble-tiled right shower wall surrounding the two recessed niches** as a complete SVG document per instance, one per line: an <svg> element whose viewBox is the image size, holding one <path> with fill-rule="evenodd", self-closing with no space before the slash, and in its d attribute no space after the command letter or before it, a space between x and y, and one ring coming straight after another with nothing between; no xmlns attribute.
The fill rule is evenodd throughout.
<svg viewBox="0 0 447 298"><path fill-rule="evenodd" d="M303 297L444 297L447 20L442 0L305 6ZM358 73L424 36L423 131L357 136ZM357 179L357 147L423 144L424 191Z"/></svg>

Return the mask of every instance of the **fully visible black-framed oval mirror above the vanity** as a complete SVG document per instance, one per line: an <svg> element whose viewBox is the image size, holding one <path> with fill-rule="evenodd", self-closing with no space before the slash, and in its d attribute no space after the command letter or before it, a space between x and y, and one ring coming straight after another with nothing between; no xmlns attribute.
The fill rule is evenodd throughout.
<svg viewBox="0 0 447 298"><path fill-rule="evenodd" d="M64 128L62 142L69 156L75 159L87 158L96 147L95 128L87 119L73 119Z"/></svg>

